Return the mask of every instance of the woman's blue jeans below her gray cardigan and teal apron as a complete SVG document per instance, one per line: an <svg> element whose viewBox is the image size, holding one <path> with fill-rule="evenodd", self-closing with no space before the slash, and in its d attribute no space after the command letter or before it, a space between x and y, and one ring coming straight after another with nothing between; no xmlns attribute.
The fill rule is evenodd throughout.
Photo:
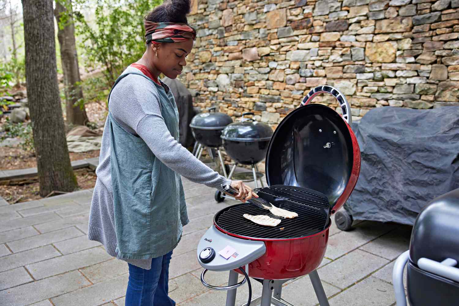
<svg viewBox="0 0 459 306"><path fill-rule="evenodd" d="M172 251L151 259L151 269L129 265L125 306L175 306L168 296L169 262Z"/></svg>

